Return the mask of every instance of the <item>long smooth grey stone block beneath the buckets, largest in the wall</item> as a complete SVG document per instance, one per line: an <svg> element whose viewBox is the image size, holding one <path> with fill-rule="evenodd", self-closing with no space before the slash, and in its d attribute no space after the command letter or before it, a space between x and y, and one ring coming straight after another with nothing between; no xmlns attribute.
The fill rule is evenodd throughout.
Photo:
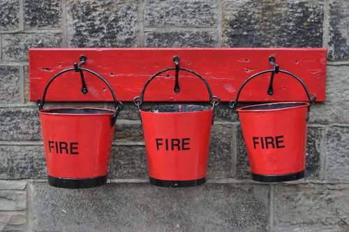
<svg viewBox="0 0 349 232"><path fill-rule="evenodd" d="M33 184L34 231L267 231L266 185Z"/></svg>

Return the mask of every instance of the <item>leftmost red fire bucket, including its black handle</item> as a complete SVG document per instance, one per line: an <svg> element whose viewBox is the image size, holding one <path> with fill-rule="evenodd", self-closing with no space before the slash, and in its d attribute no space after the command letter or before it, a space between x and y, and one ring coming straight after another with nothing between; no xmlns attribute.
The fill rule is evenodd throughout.
<svg viewBox="0 0 349 232"><path fill-rule="evenodd" d="M103 108L50 108L43 110L45 95L52 81L48 82L43 100L38 99L41 129L47 164L47 177L54 187L80 189L97 187L107 181L107 168L112 147L115 122L122 103L109 83L86 68L80 68L103 80L112 92L115 110ZM87 92L85 87L84 93Z"/></svg>

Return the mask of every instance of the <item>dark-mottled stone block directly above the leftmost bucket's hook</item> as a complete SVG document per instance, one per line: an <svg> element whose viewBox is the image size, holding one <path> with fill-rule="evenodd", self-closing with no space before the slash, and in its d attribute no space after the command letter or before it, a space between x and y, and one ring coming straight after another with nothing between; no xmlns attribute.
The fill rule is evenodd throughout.
<svg viewBox="0 0 349 232"><path fill-rule="evenodd" d="M68 1L69 47L135 47L137 1Z"/></svg>

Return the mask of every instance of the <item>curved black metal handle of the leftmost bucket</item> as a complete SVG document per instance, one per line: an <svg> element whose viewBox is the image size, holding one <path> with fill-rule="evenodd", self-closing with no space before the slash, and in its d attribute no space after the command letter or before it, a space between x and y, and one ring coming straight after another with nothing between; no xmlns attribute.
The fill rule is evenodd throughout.
<svg viewBox="0 0 349 232"><path fill-rule="evenodd" d="M45 105L45 97L46 97L47 89L51 85L51 83L54 81L54 79L58 78L59 75L61 75L63 73L66 73L68 71L76 71L77 69L81 73L82 73L82 71L87 71L88 73L92 73L92 74L96 75L96 77L103 80L103 82L105 82L105 85L107 85L107 87L110 89L110 92L112 93L112 98L114 100L114 106L115 106L115 113L114 113L114 115L112 115L112 117L110 119L111 119L111 125L114 126L115 122L117 122L117 116L119 115L119 112L124 108L124 105L121 103L121 101L117 101L117 97L115 96L115 93L112 90L112 87L110 86L109 82L107 82L107 80L105 80L98 73L91 71L90 69L87 69L87 68L80 68L80 67L67 68L67 69L64 69L63 71L60 71L56 75L54 75L53 78L51 78L51 80L47 83L47 85L45 87L45 90L43 92L43 99L42 100L38 99L38 101L36 101L36 105L38 106L39 110L43 110L43 106Z"/></svg>

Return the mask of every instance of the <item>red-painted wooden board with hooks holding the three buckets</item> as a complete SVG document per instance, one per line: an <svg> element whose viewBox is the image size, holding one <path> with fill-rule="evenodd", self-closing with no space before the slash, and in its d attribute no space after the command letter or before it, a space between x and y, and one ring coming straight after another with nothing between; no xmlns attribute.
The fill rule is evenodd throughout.
<svg viewBox="0 0 349 232"><path fill-rule="evenodd" d="M222 101L235 99L237 90L249 76L272 69L269 56L276 58L280 69L299 76L310 93L325 101L325 48L35 48L29 50L30 100L42 97L45 85L55 73L72 68L80 55L87 61L82 68L101 74L112 85L117 99L132 101L144 83L163 68L174 67L173 56L209 83ZM89 92L82 94L80 74L71 71L52 82L47 101L112 101L103 82L85 73ZM267 95L270 73L254 78L240 95L240 101L308 101L302 85L289 75L274 77L274 94ZM173 92L174 71L163 73L147 87L145 101L207 101L203 82L191 73L179 71L181 91Z"/></svg>

